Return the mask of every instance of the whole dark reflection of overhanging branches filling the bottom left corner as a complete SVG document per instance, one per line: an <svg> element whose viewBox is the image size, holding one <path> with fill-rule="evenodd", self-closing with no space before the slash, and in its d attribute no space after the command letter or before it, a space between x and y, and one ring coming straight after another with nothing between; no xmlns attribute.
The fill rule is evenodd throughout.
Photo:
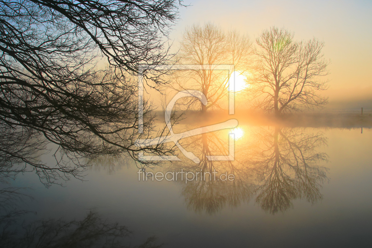
<svg viewBox="0 0 372 248"><path fill-rule="evenodd" d="M126 226L110 222L90 211L81 220L60 219L28 221L31 212L20 209L27 198L26 188L7 187L0 190L0 247L16 248L158 248L157 238L132 246L133 235ZM19 204L22 203L22 204Z"/></svg>

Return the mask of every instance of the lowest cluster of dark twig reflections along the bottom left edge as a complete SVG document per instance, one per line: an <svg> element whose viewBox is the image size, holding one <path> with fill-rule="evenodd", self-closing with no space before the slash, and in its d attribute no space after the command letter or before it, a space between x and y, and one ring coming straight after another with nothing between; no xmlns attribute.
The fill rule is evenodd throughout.
<svg viewBox="0 0 372 248"><path fill-rule="evenodd" d="M97 213L89 212L81 221L67 222L63 219L49 219L22 226L22 232L6 226L1 234L1 247L130 247L124 244L131 232L126 226L102 219ZM154 236L138 248L157 248Z"/></svg>

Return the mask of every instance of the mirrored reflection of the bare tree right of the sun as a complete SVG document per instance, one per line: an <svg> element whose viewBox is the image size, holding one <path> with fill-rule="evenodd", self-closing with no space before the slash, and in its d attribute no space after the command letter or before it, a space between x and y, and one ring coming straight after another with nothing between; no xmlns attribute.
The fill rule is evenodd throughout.
<svg viewBox="0 0 372 248"><path fill-rule="evenodd" d="M283 212L297 198L311 203L322 199L320 183L327 176L317 162L327 161L327 155L315 152L318 146L326 144L322 133L310 135L302 130L275 127L273 132L260 129L257 140L250 164L261 180L256 202L264 210Z"/></svg>

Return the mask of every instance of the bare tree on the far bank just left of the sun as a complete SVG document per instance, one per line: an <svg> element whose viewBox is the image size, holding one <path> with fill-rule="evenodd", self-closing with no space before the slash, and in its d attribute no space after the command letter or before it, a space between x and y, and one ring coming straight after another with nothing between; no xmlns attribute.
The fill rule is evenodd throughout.
<svg viewBox="0 0 372 248"><path fill-rule="evenodd" d="M187 106L201 105L203 112L209 108L222 109L221 99L228 93L230 76L234 71L246 73L251 52L248 35L225 31L212 23L194 24L183 34L178 57L181 64L201 65L202 70L178 71L174 74L173 89L199 90L208 101L204 106L194 97L186 100ZM221 70L219 65L234 65L234 70Z"/></svg>

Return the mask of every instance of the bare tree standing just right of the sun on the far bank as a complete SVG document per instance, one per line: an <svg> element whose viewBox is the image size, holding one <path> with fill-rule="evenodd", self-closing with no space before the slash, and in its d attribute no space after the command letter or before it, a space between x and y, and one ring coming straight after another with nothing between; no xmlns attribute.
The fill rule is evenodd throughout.
<svg viewBox="0 0 372 248"><path fill-rule="evenodd" d="M328 61L321 52L324 43L315 38L307 42L293 38L287 29L272 27L256 39L253 77L247 94L256 106L277 116L327 103L327 98L319 93L327 89L327 81L320 79L328 74Z"/></svg>

